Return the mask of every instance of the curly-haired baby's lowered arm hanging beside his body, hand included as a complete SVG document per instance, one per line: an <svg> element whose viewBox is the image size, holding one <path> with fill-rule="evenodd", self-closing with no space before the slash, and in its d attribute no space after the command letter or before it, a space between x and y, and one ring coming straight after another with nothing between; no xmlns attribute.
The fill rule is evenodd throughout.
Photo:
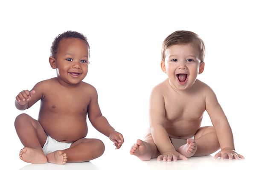
<svg viewBox="0 0 256 170"><path fill-rule="evenodd" d="M92 87L91 93L91 101L87 110L88 118L93 127L95 127L96 130L105 136L108 136L109 139L114 142L116 149L119 149L124 142L123 136L121 133L117 132L113 127L111 127L108 120L102 116L98 104L98 94L96 89Z"/></svg>

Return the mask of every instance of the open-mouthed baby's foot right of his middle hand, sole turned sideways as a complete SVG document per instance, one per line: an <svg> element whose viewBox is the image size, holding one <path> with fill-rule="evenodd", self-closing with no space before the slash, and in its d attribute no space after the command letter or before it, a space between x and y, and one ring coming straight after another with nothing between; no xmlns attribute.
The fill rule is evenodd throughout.
<svg viewBox="0 0 256 170"><path fill-rule="evenodd" d="M187 139L187 143L179 147L176 151L187 158L193 156L197 150L197 143L194 139Z"/></svg>

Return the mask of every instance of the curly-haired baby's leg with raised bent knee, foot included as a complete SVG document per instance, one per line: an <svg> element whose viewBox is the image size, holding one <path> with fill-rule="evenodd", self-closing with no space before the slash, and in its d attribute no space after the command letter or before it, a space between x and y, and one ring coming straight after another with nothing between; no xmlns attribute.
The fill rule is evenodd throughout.
<svg viewBox="0 0 256 170"><path fill-rule="evenodd" d="M15 128L24 148L20 150L20 159L32 164L47 162L42 147L47 139L41 124L27 114L20 114L15 119Z"/></svg>

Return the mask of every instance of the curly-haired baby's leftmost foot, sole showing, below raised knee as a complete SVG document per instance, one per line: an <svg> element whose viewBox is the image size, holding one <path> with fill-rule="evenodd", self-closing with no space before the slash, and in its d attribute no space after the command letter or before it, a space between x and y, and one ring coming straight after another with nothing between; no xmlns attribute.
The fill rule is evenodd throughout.
<svg viewBox="0 0 256 170"><path fill-rule="evenodd" d="M40 149L24 147L20 150L19 156L20 159L31 164L45 164L47 162L43 150Z"/></svg>

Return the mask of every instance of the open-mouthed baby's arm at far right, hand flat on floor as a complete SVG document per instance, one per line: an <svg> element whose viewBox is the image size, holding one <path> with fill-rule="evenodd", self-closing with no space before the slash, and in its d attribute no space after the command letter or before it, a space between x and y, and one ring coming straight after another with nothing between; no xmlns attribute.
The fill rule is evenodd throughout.
<svg viewBox="0 0 256 170"><path fill-rule="evenodd" d="M206 110L211 118L212 125L215 127L218 141L221 146L221 151L217 153L214 158L221 157L221 159L244 159L243 156L236 153L233 133L228 123L227 117L218 103L217 97L212 89L208 89L206 96Z"/></svg>

